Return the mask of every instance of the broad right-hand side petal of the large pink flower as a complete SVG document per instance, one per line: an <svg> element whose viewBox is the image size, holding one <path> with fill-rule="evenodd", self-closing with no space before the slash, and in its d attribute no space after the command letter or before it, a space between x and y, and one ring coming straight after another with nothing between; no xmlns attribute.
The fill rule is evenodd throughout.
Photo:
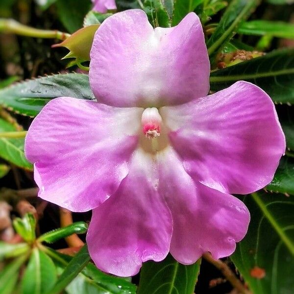
<svg viewBox="0 0 294 294"><path fill-rule="evenodd" d="M247 194L273 178L285 136L270 97L240 81L205 98L160 110L173 147L194 180Z"/></svg>

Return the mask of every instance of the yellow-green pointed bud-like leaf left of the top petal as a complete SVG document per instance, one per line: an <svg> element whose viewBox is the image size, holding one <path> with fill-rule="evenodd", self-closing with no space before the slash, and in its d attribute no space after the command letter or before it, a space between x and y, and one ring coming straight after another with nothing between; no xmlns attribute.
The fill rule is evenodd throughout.
<svg viewBox="0 0 294 294"><path fill-rule="evenodd" d="M99 25L88 25L82 27L69 38L65 39L59 44L55 44L52 47L65 47L70 50L64 58L79 58L83 61L90 60L90 50L92 47L94 35Z"/></svg>

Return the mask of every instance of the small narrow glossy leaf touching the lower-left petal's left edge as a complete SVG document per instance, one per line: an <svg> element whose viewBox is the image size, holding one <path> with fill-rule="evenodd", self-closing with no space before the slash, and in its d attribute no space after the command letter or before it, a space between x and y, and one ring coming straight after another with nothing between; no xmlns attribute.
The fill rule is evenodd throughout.
<svg viewBox="0 0 294 294"><path fill-rule="evenodd" d="M74 222L64 228L59 228L41 235L39 242L53 243L59 239L75 234L84 234L87 232L88 224L83 221Z"/></svg>

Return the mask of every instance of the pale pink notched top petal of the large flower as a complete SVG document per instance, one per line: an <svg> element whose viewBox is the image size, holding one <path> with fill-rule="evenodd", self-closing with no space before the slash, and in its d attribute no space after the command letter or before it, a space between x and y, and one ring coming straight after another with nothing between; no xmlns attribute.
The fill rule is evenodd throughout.
<svg viewBox="0 0 294 294"><path fill-rule="evenodd" d="M144 11L107 18L91 49L90 84L99 102L157 107L207 95L209 59L199 18L170 28L149 24Z"/></svg>

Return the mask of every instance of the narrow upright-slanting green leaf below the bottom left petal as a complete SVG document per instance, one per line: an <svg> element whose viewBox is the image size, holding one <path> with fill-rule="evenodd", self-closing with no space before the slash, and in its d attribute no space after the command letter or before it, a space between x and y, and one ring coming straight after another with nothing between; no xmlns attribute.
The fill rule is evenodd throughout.
<svg viewBox="0 0 294 294"><path fill-rule="evenodd" d="M57 283L48 294L59 294L69 283L78 275L81 270L89 263L90 255L87 245L84 245L73 257L63 273L60 275Z"/></svg>

